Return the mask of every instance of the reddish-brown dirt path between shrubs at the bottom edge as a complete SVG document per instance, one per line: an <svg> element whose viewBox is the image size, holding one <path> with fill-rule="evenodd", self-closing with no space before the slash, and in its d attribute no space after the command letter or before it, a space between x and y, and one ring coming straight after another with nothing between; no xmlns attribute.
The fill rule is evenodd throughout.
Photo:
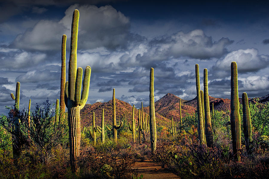
<svg viewBox="0 0 269 179"><path fill-rule="evenodd" d="M137 169L137 176L143 175L143 179L161 179L161 178L180 178L171 173L167 169L162 169L160 164L157 164L149 159L140 162L135 162L134 169Z"/></svg>

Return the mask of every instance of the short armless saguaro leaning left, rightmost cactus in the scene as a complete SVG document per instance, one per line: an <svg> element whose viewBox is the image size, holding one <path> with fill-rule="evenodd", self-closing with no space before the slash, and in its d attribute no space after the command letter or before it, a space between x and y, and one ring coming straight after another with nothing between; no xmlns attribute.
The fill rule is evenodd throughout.
<svg viewBox="0 0 269 179"><path fill-rule="evenodd" d="M246 141L246 152L247 154L252 153L252 124L250 118L250 111L248 107L247 93L242 94L242 104L243 104L243 129L244 137Z"/></svg>

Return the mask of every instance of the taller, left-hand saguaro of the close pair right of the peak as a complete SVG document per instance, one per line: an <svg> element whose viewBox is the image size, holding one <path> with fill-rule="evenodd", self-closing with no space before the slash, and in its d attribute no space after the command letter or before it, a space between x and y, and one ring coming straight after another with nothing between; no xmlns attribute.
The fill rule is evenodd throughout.
<svg viewBox="0 0 269 179"><path fill-rule="evenodd" d="M196 94L197 94L197 115L198 115L198 138L200 144L205 144L204 135L204 123L203 123L203 113L202 113L202 103L201 103L201 93L200 93L200 77L199 77L199 65L195 64L195 76L196 76Z"/></svg>

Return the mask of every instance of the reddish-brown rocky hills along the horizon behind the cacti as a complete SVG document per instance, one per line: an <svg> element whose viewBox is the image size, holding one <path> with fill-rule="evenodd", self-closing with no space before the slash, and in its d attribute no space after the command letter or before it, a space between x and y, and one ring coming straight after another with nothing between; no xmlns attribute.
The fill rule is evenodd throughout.
<svg viewBox="0 0 269 179"><path fill-rule="evenodd" d="M122 121L126 118L128 121L132 120L132 106L124 101L116 100L116 118L117 124L119 124L119 119ZM156 122L161 123L163 121L168 121L171 116L175 121L179 121L179 100L180 98L168 93L164 95L161 99L155 102L155 117ZM249 102L258 101L259 103L265 103L269 101L269 94L263 97L249 98ZM226 111L230 110L230 99L214 98L209 96L210 110L212 109L212 104L214 103L214 110ZM242 99L239 98L239 102L242 103ZM184 117L187 113L192 114L196 112L197 108L197 97L187 101L181 99L181 113ZM91 126L92 125L92 112L95 113L95 124L100 125L102 119L102 109L105 110L105 121L107 124L112 124L112 100L108 102L96 102L94 104L86 104L85 107L80 111L81 125ZM141 109L141 108L140 108ZM144 112L149 114L149 106L144 107ZM137 125L138 109L135 108L135 120Z"/></svg>

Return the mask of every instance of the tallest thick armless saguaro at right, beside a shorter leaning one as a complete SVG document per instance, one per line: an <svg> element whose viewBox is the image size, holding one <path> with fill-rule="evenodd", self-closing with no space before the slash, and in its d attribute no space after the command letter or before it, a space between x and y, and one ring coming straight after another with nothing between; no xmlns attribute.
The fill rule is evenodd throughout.
<svg viewBox="0 0 269 179"><path fill-rule="evenodd" d="M240 161L241 149L241 122L239 114L239 98L238 98L238 84L237 84L237 64L235 61L231 63L231 131L233 154L236 161Z"/></svg>

